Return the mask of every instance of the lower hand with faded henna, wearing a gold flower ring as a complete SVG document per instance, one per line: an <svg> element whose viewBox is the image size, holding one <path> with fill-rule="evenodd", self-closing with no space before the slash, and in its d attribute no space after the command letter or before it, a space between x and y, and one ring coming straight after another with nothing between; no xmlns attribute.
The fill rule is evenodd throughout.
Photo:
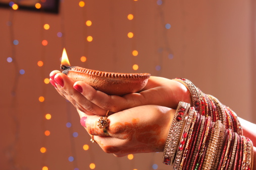
<svg viewBox="0 0 256 170"><path fill-rule="evenodd" d="M175 110L155 106L139 106L108 117L106 136L99 129L97 115L78 110L81 124L107 153L120 157L132 153L163 152Z"/></svg>

